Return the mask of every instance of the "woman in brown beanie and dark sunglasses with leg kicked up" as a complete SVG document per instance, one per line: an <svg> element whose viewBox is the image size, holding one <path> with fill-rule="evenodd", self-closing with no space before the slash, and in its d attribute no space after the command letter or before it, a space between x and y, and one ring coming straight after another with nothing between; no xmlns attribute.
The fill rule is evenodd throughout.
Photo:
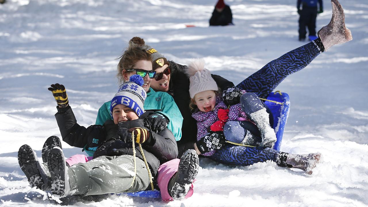
<svg viewBox="0 0 368 207"><path fill-rule="evenodd" d="M337 0L332 0L332 6L333 18L330 24L323 27L318 32L319 38L272 60L262 67L262 69L256 71L239 83L236 87L247 92L254 92L259 98L267 98L270 92L274 91L287 76L302 70L319 54L333 45L350 41L352 39L351 33L350 30L345 27L345 16L340 3ZM145 45L143 39L139 39L137 43L141 43L144 49L151 51L152 56L156 56L155 60L162 59L159 63L165 63L153 67L156 74L163 72L170 65L170 74L163 74L163 77L158 81L152 80L151 87L156 91L165 91L172 95L184 118L182 127L183 135L181 140L177 142L179 151L178 156L181 156L185 150L197 148L197 125L196 121L191 117L191 111L188 107L190 96L189 78L185 74L187 66L177 64L173 61L167 61L157 50L153 49L151 46ZM213 74L211 74L211 76L222 91L229 87L234 87L233 83L220 76ZM272 115L270 115L270 117L272 117ZM231 147L231 145L227 145L219 151L221 153L216 153L216 155L219 156L210 158L217 162L231 163L228 159L231 159L231 153L235 152L235 150L233 150L233 152L229 154ZM242 151L242 153L247 156L244 156L243 160L238 160L238 163L236 163L237 165L250 165L254 160L250 160L246 157L254 158L263 153L262 149L251 152L247 147L240 146L239 148L241 149L236 151Z"/></svg>

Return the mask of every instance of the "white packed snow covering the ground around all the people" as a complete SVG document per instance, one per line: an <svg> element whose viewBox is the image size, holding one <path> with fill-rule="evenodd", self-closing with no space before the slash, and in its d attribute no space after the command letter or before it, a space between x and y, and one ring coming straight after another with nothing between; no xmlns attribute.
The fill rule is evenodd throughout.
<svg viewBox="0 0 368 207"><path fill-rule="evenodd" d="M234 84L307 42L298 40L296 0L226 0L234 26L208 27L216 0L7 0L0 4L0 206L54 206L31 189L17 161L29 144L39 159L47 137L60 136L50 84L67 88L78 123L95 123L118 89L116 66L134 36L167 59L206 68ZM319 152L312 175L273 162L226 166L201 158L195 193L165 203L111 195L70 206L368 205L368 2L341 0L353 41L332 46L276 90L290 95L281 150ZM317 30L330 22L323 1ZM186 27L195 25L196 27ZM81 149L62 143L66 156ZM60 201L59 201L60 202Z"/></svg>

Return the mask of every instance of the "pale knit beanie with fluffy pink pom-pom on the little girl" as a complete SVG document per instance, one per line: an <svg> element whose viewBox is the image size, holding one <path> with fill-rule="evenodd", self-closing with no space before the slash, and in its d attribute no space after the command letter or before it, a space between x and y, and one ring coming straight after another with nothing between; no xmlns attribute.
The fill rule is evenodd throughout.
<svg viewBox="0 0 368 207"><path fill-rule="evenodd" d="M209 70L205 69L205 61L203 59L194 59L188 64L185 71L189 77L189 94L190 98L194 98L195 94L202 91L217 91L218 87L211 77Z"/></svg>

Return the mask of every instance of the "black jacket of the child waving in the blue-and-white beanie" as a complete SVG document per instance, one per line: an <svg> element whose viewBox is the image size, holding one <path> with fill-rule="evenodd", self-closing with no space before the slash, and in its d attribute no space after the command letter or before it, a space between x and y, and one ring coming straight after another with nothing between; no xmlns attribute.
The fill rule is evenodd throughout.
<svg viewBox="0 0 368 207"><path fill-rule="evenodd" d="M59 125L61 137L63 141L74 147L83 148L85 143L98 145L93 157L133 155L131 133L127 130L132 127L144 126L143 118L149 113L144 113L137 120L126 121L122 123L121 134L117 135L118 125L113 120L107 120L103 126L91 125L89 127L80 126L75 119L74 113L70 106L59 108L55 114L57 124ZM167 128L158 134L149 130L149 139L142 144L144 155L151 168L152 175L156 176L160 164L175 159L178 154L177 144L174 135ZM98 140L98 144L94 143ZM138 144L136 146L136 156L142 159Z"/></svg>

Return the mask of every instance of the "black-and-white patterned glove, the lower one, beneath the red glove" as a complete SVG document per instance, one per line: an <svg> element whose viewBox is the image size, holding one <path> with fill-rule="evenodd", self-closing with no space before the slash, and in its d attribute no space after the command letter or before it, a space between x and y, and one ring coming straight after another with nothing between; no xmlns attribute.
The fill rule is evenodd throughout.
<svg viewBox="0 0 368 207"><path fill-rule="evenodd" d="M197 141L197 147L201 154L213 150L219 150L225 144L224 134L221 132L212 132Z"/></svg>

